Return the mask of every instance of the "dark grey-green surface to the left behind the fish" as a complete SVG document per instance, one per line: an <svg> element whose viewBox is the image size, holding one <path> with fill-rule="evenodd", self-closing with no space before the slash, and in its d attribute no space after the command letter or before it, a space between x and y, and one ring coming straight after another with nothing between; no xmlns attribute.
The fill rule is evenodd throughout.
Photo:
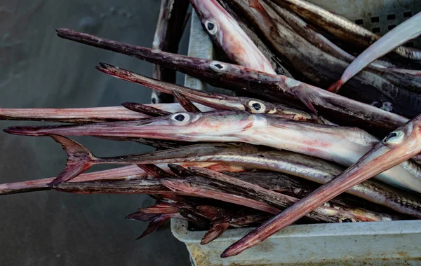
<svg viewBox="0 0 421 266"><path fill-rule="evenodd" d="M107 62L151 76L151 64L58 38L55 28L67 27L150 48L159 3L0 0L0 106L149 103L149 89L106 76L95 66ZM187 52L187 36L188 30L180 45L183 54ZM182 76L178 76L178 83L182 83ZM2 121L0 127L37 124ZM74 139L98 156L152 151L128 142ZM64 151L48 137L0 132L0 147L0 183L55 176L65 165ZM147 224L128 221L125 216L151 203L143 195L54 191L1 197L0 265L188 265L185 245L171 235L168 225L135 241Z"/></svg>

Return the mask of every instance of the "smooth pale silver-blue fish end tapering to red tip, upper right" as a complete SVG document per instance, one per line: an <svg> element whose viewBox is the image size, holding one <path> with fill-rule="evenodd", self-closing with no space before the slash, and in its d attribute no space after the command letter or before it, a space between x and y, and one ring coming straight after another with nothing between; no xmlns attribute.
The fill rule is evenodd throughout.
<svg viewBox="0 0 421 266"><path fill-rule="evenodd" d="M382 38L379 38L375 43L364 50L354 61L345 69L340 80L333 83L328 88L330 92L338 92L339 88L345 84L349 79L359 73L368 64L375 59L386 55L388 52L406 43L421 34L421 12L413 15L413 17L402 22L397 27L387 32Z"/></svg>

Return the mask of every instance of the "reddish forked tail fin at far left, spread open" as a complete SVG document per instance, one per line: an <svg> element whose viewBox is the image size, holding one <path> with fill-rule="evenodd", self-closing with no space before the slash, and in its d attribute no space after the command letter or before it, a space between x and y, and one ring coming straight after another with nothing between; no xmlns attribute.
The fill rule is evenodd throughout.
<svg viewBox="0 0 421 266"><path fill-rule="evenodd" d="M67 139L60 135L51 134L49 137L61 144L67 154L65 169L53 180L51 185L66 182L74 179L79 174L85 172L95 163L96 158L91 151L72 139Z"/></svg>

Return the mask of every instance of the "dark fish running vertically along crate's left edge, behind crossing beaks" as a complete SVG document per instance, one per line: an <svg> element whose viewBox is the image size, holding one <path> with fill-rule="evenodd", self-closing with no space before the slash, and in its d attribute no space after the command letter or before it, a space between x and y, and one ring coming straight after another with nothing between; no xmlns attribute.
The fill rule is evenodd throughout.
<svg viewBox="0 0 421 266"><path fill-rule="evenodd" d="M159 10L158 22L156 23L152 49L178 52L178 45L189 18L189 13L187 13L188 8L188 0L161 0L161 8ZM175 74L174 70L166 69L159 64L154 64L152 68L152 77L157 80L175 83ZM173 102L174 97L171 97L171 95L163 94L156 90L152 91L152 104Z"/></svg>

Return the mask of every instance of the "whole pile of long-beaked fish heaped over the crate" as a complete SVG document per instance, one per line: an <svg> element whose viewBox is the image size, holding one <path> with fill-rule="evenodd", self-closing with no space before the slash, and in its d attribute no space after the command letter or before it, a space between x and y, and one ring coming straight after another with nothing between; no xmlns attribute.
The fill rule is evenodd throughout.
<svg viewBox="0 0 421 266"><path fill-rule="evenodd" d="M220 61L176 54L189 3ZM170 218L207 230L201 244L257 226L222 257L293 223L419 219L421 51L402 45L421 34L420 20L418 13L380 37L302 0L162 0L152 49L57 29L61 38L152 62L153 78L97 66L151 88L152 104L0 109L3 120L69 124L4 130L53 138L67 164L55 178L0 185L0 195L145 193L155 204L128 216L149 222L141 237ZM176 85L175 71L236 96ZM72 136L157 150L98 158ZM100 164L124 166L83 173Z"/></svg>

